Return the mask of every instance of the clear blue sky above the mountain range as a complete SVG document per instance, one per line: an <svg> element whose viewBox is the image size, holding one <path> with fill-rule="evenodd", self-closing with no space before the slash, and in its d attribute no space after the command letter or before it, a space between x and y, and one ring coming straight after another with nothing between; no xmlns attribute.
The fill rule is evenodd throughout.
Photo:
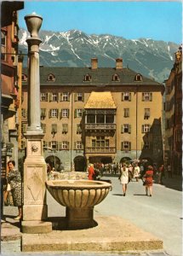
<svg viewBox="0 0 183 256"><path fill-rule="evenodd" d="M182 42L182 3L179 1L25 1L25 8L19 11L20 27L26 28L24 17L32 12L43 17L42 30L77 29L88 34L107 33L127 39Z"/></svg>

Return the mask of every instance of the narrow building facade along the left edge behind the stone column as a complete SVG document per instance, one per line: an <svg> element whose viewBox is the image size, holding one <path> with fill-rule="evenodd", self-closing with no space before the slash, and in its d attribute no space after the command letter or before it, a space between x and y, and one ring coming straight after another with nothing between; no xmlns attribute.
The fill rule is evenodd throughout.
<svg viewBox="0 0 183 256"><path fill-rule="evenodd" d="M2 173L12 158L18 164L18 116L20 103L20 68L18 56L18 10L24 8L20 1L1 3L1 154Z"/></svg>

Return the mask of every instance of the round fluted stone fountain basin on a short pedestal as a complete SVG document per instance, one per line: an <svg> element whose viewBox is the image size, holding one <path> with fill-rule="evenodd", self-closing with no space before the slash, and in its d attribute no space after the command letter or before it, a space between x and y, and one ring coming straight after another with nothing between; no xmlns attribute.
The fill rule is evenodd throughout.
<svg viewBox="0 0 183 256"><path fill-rule="evenodd" d="M111 183L91 180L49 180L49 193L66 207L68 229L94 227L94 206L106 198Z"/></svg>

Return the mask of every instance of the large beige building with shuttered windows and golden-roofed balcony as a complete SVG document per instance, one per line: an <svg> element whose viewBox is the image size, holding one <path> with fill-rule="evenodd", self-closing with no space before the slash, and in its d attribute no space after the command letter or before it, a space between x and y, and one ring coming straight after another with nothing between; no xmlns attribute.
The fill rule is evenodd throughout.
<svg viewBox="0 0 183 256"><path fill-rule="evenodd" d="M123 159L163 162L163 84L123 67L41 67L45 159L60 170ZM22 134L27 123L27 70L22 75ZM21 150L25 138L22 136Z"/></svg>

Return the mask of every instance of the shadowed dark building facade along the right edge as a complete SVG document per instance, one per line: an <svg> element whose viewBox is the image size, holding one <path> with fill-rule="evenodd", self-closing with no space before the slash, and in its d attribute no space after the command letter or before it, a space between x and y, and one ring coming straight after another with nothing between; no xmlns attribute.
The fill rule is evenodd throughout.
<svg viewBox="0 0 183 256"><path fill-rule="evenodd" d="M182 48L175 53L174 67L165 81L165 165L182 172Z"/></svg>

